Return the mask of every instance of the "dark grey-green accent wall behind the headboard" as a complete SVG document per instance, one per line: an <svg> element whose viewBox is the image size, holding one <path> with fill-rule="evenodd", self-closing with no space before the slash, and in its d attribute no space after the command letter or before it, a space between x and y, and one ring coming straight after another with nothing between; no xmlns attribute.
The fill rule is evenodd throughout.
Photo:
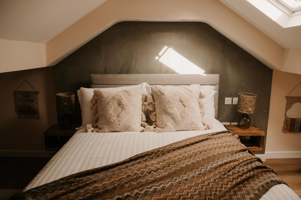
<svg viewBox="0 0 301 200"><path fill-rule="evenodd" d="M219 121L236 122L241 114L224 105L225 97L250 92L257 94L252 124L267 130L272 70L202 22L119 22L55 66L56 92L88 87L90 73L176 73L155 59L164 46L205 73L220 74ZM73 117L80 123L78 104Z"/></svg>

